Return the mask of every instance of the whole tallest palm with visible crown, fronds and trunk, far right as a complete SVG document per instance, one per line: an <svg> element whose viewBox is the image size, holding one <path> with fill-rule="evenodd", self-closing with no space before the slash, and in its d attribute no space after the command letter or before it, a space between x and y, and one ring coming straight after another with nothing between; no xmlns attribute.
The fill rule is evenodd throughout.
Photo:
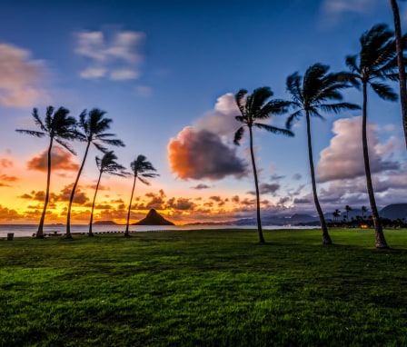
<svg viewBox="0 0 407 347"><path fill-rule="evenodd" d="M383 83L385 79L392 81L398 79L397 54L393 33L388 29L387 25L372 26L370 30L362 34L360 44L361 50L358 55L346 56L346 65L351 71L349 78L352 83L358 89L362 84L362 149L367 192L372 210L376 247L387 248L372 185L367 144L367 91L368 85L370 85L372 90L383 100L397 100L397 94L393 92L392 87Z"/></svg>

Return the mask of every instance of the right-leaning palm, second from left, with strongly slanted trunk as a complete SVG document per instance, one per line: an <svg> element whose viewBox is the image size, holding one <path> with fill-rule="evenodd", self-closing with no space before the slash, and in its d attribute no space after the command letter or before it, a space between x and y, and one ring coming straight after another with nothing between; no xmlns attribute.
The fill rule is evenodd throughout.
<svg viewBox="0 0 407 347"><path fill-rule="evenodd" d="M71 235L71 208L74 201L74 192L79 181L79 177L84 169L84 162L86 161L87 154L89 152L89 147L91 144L103 153L107 152L107 149L103 144L111 144L116 146L124 146L121 140L113 139L114 134L104 133L110 128L112 119L104 118L104 111L97 108L92 109L89 113L84 110L82 114L79 115L78 127L79 131L76 132L75 139L86 143L86 149L84 151L84 159L82 160L81 167L76 175L74 181L74 186L72 188L71 195L69 197L68 213L66 218L66 234L65 238L72 239ZM82 131L82 132L81 132Z"/></svg>

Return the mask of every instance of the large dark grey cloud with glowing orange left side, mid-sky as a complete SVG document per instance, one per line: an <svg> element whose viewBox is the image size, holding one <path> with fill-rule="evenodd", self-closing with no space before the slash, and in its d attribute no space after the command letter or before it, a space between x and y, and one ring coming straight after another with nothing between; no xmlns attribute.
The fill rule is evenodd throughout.
<svg viewBox="0 0 407 347"><path fill-rule="evenodd" d="M170 140L168 159L173 173L184 180L220 180L227 175L246 174L246 164L236 156L236 150L207 130L185 127L176 139Z"/></svg>

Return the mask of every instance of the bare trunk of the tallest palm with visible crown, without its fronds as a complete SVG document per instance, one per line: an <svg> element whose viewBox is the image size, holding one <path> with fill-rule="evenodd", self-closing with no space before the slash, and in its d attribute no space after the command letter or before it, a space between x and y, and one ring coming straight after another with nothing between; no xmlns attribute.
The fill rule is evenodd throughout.
<svg viewBox="0 0 407 347"><path fill-rule="evenodd" d="M369 195L369 202L371 203L372 219L376 238L376 248L387 248L388 246L384 238L382 223L379 218L379 212L377 211L376 200L374 198L371 164L369 161L369 148L367 145L367 82L363 82L362 148L364 172L366 173L367 193Z"/></svg>

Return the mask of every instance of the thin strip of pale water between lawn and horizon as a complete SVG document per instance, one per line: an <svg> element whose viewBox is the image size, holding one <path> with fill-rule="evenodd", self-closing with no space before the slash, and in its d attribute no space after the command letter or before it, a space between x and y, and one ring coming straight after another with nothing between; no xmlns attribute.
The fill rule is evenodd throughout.
<svg viewBox="0 0 407 347"><path fill-rule="evenodd" d="M15 237L30 237L36 233L37 224L0 224L0 238L5 238L7 233L14 233ZM164 230L199 230L199 229L256 229L255 225L131 225L130 232L159 232ZM263 225L263 229L310 229L313 227ZM94 225L94 233L117 232L124 233L125 225ZM71 225L71 233L88 233L88 225ZM65 233L65 225L45 225L44 233Z"/></svg>

